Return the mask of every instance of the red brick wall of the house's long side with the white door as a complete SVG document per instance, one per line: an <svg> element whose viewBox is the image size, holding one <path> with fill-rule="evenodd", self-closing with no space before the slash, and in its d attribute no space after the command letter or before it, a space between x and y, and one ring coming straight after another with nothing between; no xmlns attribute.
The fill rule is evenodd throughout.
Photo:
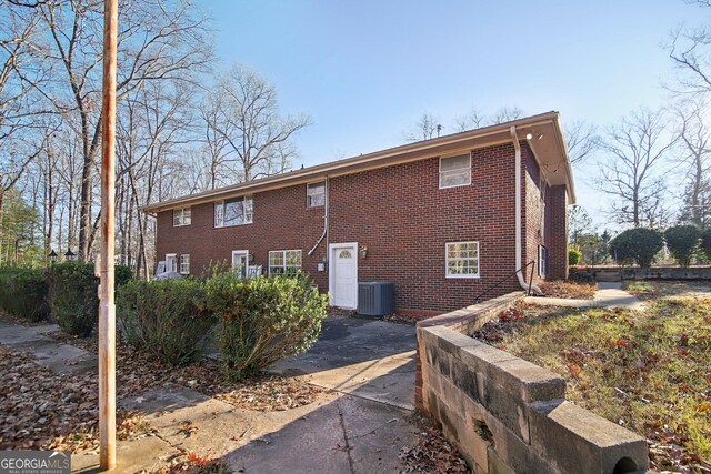
<svg viewBox="0 0 711 474"><path fill-rule="evenodd" d="M527 170L524 162L525 177ZM190 253L191 272L200 273L211 260L229 261L232 250L251 251L252 264L267 270L270 250L301 249L303 270L328 291L328 272L317 271L328 243L358 242L368 246L368 256L358 258L359 281L394 282L399 311L447 312L472 304L515 270L513 177L509 143L473 151L468 186L440 190L438 158L332 178L329 235L313 256L307 252L323 231L323 208L306 208L303 184L256 193L252 224L214 229L212 203L193 206L192 224L183 228L172 226L172 211L161 212L157 253L159 260ZM481 278L447 279L445 243L469 240L480 242ZM528 254L532 243L524 242ZM489 297L518 289L510 279Z"/></svg>

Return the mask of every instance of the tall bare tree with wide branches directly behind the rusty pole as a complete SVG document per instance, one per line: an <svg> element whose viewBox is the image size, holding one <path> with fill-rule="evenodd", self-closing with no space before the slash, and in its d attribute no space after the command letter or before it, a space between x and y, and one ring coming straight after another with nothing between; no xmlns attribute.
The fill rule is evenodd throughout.
<svg viewBox="0 0 711 474"><path fill-rule="evenodd" d="M48 2L37 9L44 31L38 47L57 68L53 81L39 89L82 144L79 255L87 260L98 222L93 196L101 134L102 2ZM189 80L209 64L206 18L189 0L124 0L119 11L118 101L149 82Z"/></svg>

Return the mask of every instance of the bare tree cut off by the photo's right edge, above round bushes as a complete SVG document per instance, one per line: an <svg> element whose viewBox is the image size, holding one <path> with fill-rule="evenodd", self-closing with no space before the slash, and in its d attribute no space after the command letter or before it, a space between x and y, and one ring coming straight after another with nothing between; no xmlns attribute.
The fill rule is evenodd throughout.
<svg viewBox="0 0 711 474"><path fill-rule="evenodd" d="M711 130L709 103L697 98L674 108L687 185L680 220L700 228L711 224Z"/></svg>

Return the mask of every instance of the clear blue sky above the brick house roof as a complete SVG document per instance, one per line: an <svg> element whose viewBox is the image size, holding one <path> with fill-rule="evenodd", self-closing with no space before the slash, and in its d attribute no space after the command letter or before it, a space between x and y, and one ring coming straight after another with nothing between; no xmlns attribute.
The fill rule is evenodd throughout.
<svg viewBox="0 0 711 474"><path fill-rule="evenodd" d="M681 23L711 20L683 0L200 3L220 68L261 72L284 112L311 115L294 168L401 144L424 111L445 125L503 105L608 125L664 101L673 70L662 43ZM594 208L585 174L580 203Z"/></svg>

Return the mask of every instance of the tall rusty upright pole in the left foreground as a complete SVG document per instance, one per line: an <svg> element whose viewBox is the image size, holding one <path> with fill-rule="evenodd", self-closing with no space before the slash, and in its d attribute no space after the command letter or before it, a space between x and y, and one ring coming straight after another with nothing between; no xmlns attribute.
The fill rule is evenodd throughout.
<svg viewBox="0 0 711 474"><path fill-rule="evenodd" d="M101 254L99 290L99 461L116 467L116 305L113 303L116 196L116 77L118 0L103 1L103 91L101 118Z"/></svg>

